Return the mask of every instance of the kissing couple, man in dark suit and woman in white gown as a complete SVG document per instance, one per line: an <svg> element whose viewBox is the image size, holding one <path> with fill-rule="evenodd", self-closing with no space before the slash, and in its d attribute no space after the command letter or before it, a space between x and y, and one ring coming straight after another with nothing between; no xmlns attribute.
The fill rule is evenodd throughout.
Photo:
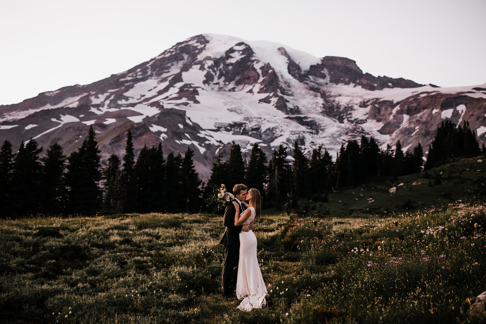
<svg viewBox="0 0 486 324"><path fill-rule="evenodd" d="M235 199L226 205L226 229L220 242L225 246L221 290L226 298L243 298L238 308L250 311L265 306L267 295L257 258L257 237L253 234L253 224L260 219L260 191L247 191L244 184L237 184L233 195Z"/></svg>

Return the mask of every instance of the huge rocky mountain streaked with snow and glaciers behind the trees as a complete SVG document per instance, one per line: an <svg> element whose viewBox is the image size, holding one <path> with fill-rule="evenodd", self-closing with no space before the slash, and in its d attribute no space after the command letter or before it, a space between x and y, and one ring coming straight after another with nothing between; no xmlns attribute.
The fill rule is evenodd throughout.
<svg viewBox="0 0 486 324"><path fill-rule="evenodd" d="M161 142L165 153L183 153L191 146L208 179L220 142L234 141L244 152L260 143L268 154L284 143L290 155L295 141L306 151L324 144L335 156L347 140L367 135L426 150L440 122L451 119L469 121L486 143L485 110L486 84L440 88L375 77L345 57L205 34L101 81L0 106L0 141L58 142L70 153L93 125L106 159L123 155L131 128L138 150Z"/></svg>

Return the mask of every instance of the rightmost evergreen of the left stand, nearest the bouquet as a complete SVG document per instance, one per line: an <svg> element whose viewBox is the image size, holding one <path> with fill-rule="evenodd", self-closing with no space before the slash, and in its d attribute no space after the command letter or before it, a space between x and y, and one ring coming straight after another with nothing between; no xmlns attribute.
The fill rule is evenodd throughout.
<svg viewBox="0 0 486 324"><path fill-rule="evenodd" d="M202 203L200 186L203 181L199 179L199 174L194 168L193 156L194 151L188 147L181 163L182 205L180 209L188 213L198 212Z"/></svg>

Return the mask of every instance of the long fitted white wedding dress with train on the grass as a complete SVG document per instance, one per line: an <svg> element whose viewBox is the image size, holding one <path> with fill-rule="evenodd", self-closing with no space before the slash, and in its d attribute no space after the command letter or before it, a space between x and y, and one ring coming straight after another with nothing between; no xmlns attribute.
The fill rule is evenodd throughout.
<svg viewBox="0 0 486 324"><path fill-rule="evenodd" d="M251 215L248 216L243 225L250 224L255 219L255 208L250 207L250 211ZM240 233L236 297L238 299L243 298L243 301L238 308L245 311L262 308L267 304L265 300L267 293L257 258L257 237L253 234L253 231L242 231Z"/></svg>

